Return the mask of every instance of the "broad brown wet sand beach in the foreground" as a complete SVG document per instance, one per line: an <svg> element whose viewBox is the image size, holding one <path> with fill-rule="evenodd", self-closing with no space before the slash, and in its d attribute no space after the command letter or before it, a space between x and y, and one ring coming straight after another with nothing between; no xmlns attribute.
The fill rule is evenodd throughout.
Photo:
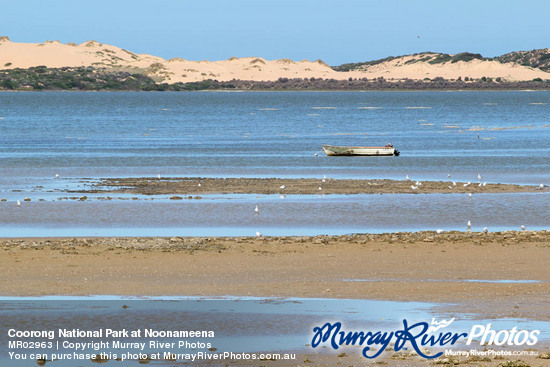
<svg viewBox="0 0 550 367"><path fill-rule="evenodd" d="M0 294L381 299L550 320L549 247L547 231L1 239Z"/></svg>

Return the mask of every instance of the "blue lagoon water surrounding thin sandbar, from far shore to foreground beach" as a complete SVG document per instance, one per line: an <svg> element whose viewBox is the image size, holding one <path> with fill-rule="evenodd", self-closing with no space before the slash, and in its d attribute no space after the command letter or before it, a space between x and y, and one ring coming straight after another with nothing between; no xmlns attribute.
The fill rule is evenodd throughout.
<svg viewBox="0 0 550 367"><path fill-rule="evenodd" d="M388 141L400 157L320 153L322 144ZM157 174L446 180L451 173L477 182L480 173L488 182L548 185L550 92L0 93L0 172L3 235L347 233L462 229L467 220L479 229L548 228L548 194L80 203L51 191L82 177ZM33 201L18 208L25 197ZM254 205L266 208L259 218L249 215ZM361 219L372 210L382 215Z"/></svg>

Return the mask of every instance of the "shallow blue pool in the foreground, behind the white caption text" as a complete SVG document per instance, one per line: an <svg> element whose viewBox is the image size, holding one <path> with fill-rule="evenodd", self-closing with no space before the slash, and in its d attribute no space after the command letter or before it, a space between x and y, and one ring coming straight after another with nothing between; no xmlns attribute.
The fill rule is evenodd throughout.
<svg viewBox="0 0 550 367"><path fill-rule="evenodd" d="M304 299L304 298L239 298L222 297L208 299L200 297L147 297L136 300L132 297L2 297L0 298L0 364L10 366L32 365L29 361L16 363L8 358L7 330L53 330L60 341L99 342L116 340L103 335L101 338L58 337L59 329L83 331L113 329L129 332L151 329L156 331L212 330L214 337L186 338L192 343L211 343L206 347L184 345L169 348L175 353L234 352L296 352L311 351L313 327L325 322L340 321L347 330L395 331L403 328L403 319L409 322L428 322L450 319L449 315L437 311L437 304L418 302L391 302L352 299ZM539 339L548 339L550 323L542 321L501 319L478 320L472 315L453 315L455 321L449 331L468 332L473 324L491 323L493 329L538 329ZM475 320L475 321L474 321ZM10 340L18 340L11 338ZM45 338L26 339L48 341ZM142 353L159 352L151 346L151 340L175 342L182 338L170 337L125 337L125 342L145 342ZM344 348L348 353L358 353L357 348ZM87 345L83 351L89 353L123 353L124 350ZM136 352L137 350L133 350ZM160 350L166 351L165 349ZM34 352L52 353L38 348ZM69 350L69 352L71 352ZM107 365L138 365L138 362L110 361ZM48 362L51 366L74 366L74 361ZM93 362L79 361L81 366L93 366Z"/></svg>

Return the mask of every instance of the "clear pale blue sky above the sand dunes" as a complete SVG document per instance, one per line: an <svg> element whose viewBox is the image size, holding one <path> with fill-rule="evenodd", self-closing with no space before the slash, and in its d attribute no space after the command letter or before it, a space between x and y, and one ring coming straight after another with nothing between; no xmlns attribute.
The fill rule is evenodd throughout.
<svg viewBox="0 0 550 367"><path fill-rule="evenodd" d="M1 0L0 5L0 35L14 42L93 39L188 60L260 56L339 65L422 51L496 56L550 47L547 0Z"/></svg>

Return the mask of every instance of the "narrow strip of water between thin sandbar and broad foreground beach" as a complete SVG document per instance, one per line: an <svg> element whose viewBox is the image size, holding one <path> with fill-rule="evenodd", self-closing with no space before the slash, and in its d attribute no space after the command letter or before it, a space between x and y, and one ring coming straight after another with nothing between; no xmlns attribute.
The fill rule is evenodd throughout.
<svg viewBox="0 0 550 367"><path fill-rule="evenodd" d="M13 195L13 194L12 194ZM56 194L58 195L58 194ZM40 196L40 195L38 195ZM0 233L18 236L266 236L467 229L547 229L550 194L203 195L92 194L0 202ZM78 198L78 196L75 196ZM132 200L135 198L135 200ZM33 200L35 200L33 198ZM259 213L254 208L258 206Z"/></svg>

